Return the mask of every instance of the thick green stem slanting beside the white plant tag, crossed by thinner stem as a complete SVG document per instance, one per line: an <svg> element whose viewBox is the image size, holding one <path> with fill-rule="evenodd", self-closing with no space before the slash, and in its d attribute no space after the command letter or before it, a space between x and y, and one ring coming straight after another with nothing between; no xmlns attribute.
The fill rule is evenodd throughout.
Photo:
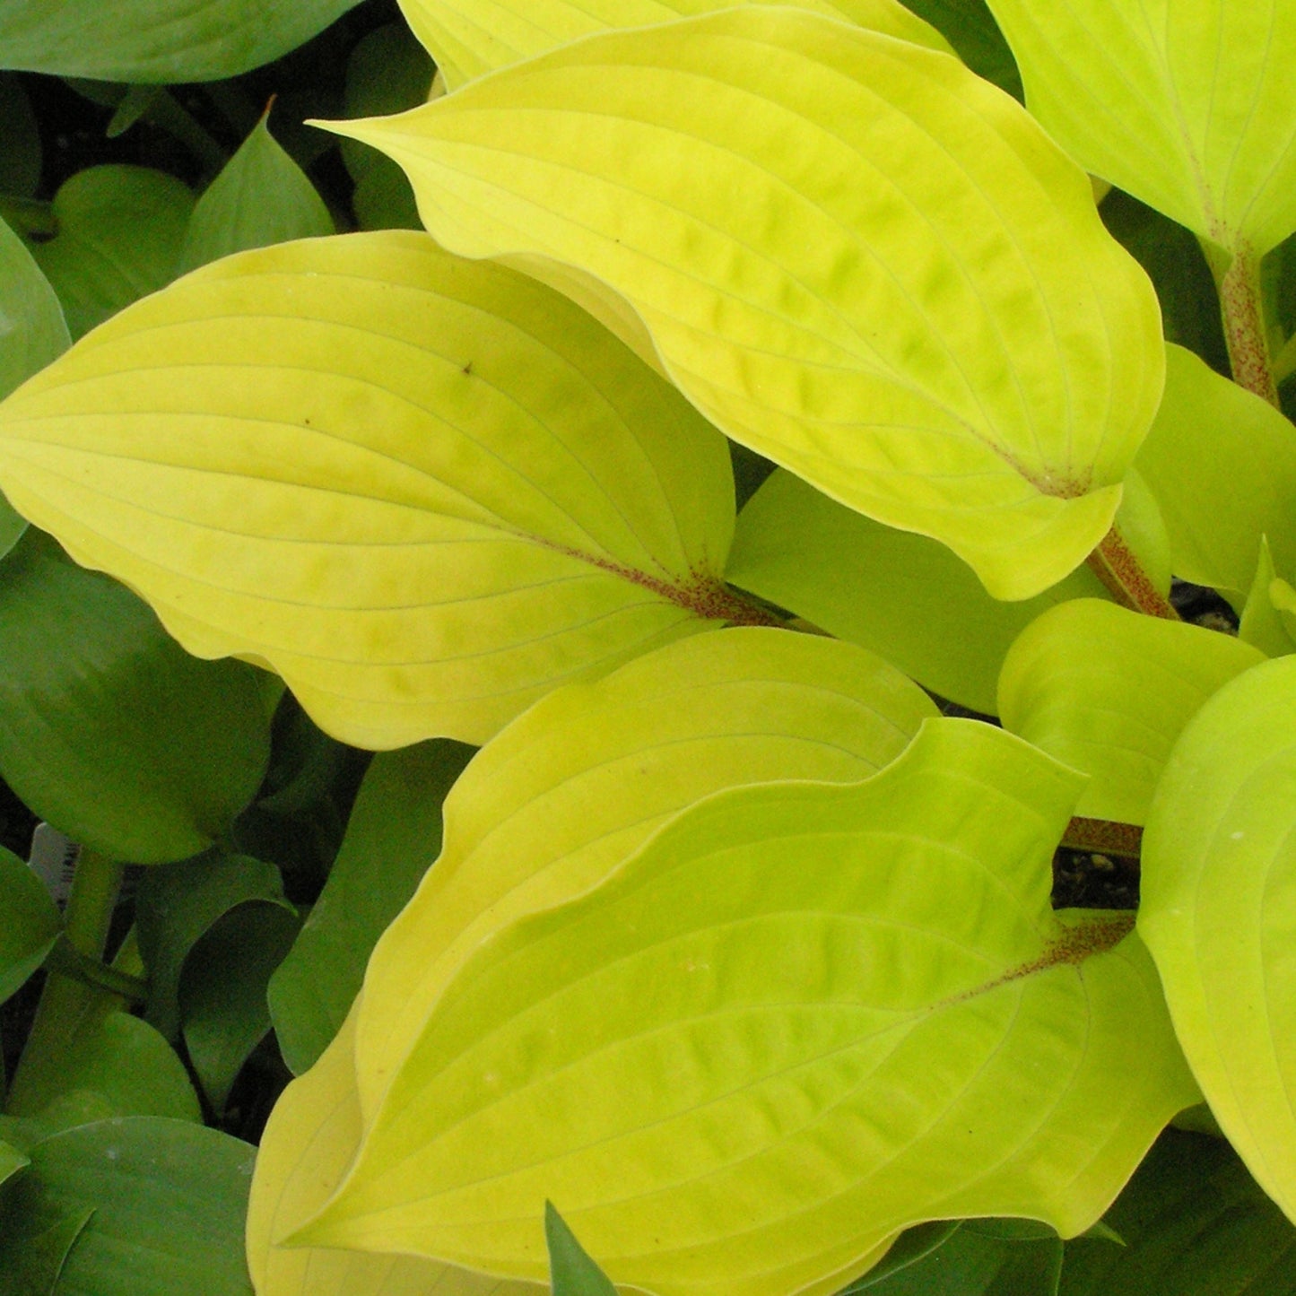
<svg viewBox="0 0 1296 1296"><path fill-rule="evenodd" d="M123 872L122 864L93 850L82 850L76 861L64 914L64 937L84 959L98 963L104 958ZM69 1045L86 1015L105 998L117 995L106 988L89 985L80 976L49 969L5 1111L34 1116L57 1095Z"/></svg>

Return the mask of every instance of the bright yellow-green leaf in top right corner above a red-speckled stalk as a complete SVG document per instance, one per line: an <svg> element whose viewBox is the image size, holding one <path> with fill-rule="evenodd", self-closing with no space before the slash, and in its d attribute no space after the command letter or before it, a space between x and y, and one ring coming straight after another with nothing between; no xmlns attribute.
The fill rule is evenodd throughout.
<svg viewBox="0 0 1296 1296"><path fill-rule="evenodd" d="M1256 257L1296 229L1283 0L989 0L1026 104L1087 170Z"/></svg>

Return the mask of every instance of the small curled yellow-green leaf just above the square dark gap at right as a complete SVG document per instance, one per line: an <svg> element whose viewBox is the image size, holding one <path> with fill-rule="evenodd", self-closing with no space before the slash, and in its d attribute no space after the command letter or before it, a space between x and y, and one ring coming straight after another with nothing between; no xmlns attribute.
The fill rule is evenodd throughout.
<svg viewBox="0 0 1296 1296"><path fill-rule="evenodd" d="M1230 635L1077 599L1012 645L998 715L1010 732L1091 775L1078 814L1142 824L1183 726L1261 661Z"/></svg>

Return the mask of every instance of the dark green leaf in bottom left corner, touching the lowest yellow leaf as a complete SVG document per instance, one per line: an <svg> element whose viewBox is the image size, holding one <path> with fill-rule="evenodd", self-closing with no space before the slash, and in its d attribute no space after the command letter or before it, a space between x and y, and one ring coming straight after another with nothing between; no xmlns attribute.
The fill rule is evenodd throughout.
<svg viewBox="0 0 1296 1296"><path fill-rule="evenodd" d="M31 1234L93 1212L58 1296L251 1296L240 1239L253 1152L187 1121L82 1125L31 1148L6 1223Z"/></svg>

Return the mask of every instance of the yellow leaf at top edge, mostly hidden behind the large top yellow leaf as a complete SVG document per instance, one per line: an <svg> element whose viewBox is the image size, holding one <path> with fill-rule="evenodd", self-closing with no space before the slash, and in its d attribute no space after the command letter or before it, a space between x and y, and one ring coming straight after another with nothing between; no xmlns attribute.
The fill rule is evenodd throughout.
<svg viewBox="0 0 1296 1296"><path fill-rule="evenodd" d="M450 89L599 31L647 27L726 8L728 0L402 0L400 4ZM897 0L798 0L797 8L933 49L950 48L940 32Z"/></svg>

